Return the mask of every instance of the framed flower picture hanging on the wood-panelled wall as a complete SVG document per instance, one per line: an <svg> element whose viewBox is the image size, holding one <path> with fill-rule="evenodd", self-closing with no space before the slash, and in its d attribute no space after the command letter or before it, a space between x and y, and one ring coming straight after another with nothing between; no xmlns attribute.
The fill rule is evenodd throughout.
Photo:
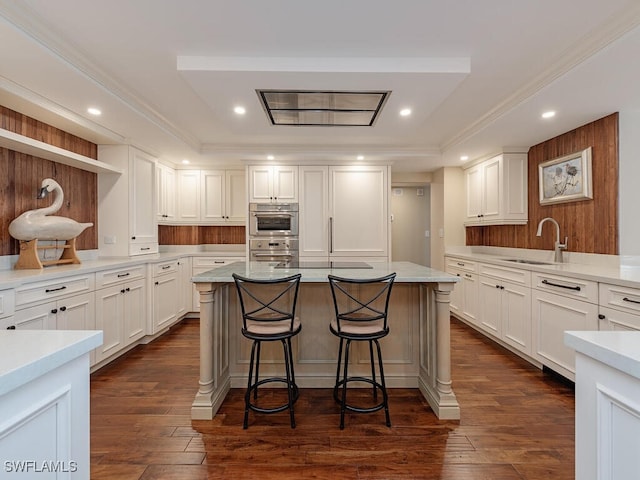
<svg viewBox="0 0 640 480"><path fill-rule="evenodd" d="M540 205L590 200L591 147L538 165Z"/></svg>

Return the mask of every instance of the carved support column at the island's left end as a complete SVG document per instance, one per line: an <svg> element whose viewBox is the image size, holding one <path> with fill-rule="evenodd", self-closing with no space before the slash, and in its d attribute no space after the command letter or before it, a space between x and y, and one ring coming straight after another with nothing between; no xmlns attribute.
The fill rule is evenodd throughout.
<svg viewBox="0 0 640 480"><path fill-rule="evenodd" d="M200 379L191 405L193 420L211 420L231 388L228 359L228 319L223 314L226 285L196 283L200 294Z"/></svg>

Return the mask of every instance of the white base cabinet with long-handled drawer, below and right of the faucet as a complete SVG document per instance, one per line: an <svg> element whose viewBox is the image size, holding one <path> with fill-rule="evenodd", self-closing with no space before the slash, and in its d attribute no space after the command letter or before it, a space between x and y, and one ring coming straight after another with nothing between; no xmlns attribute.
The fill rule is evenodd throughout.
<svg viewBox="0 0 640 480"><path fill-rule="evenodd" d="M575 352L565 346L567 330L598 330L598 284L589 280L532 275L533 356L575 380Z"/></svg>

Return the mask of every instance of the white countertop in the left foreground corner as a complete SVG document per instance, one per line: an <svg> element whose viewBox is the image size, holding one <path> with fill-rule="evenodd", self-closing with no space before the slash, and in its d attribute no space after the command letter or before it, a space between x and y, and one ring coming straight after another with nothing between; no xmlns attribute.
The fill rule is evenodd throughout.
<svg viewBox="0 0 640 480"><path fill-rule="evenodd" d="M0 330L0 396L99 345L99 330Z"/></svg>

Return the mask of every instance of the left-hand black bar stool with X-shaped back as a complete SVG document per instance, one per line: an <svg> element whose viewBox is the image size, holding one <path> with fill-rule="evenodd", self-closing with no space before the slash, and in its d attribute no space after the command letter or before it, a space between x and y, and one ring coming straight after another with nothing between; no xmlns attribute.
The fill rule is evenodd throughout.
<svg viewBox="0 0 640 480"><path fill-rule="evenodd" d="M244 429L248 427L249 410L258 413L276 413L289 409L291 428L296 427L293 404L298 400L299 393L293 370L291 338L300 333L302 328L300 319L295 315L300 277L301 274L297 274L284 278L257 280L233 274L242 309L242 335L253 340L249 379L244 396ZM274 341L282 342L285 377L267 377L260 380L260 346L262 342ZM258 387L268 383L285 384L287 403L276 407L258 406Z"/></svg>

